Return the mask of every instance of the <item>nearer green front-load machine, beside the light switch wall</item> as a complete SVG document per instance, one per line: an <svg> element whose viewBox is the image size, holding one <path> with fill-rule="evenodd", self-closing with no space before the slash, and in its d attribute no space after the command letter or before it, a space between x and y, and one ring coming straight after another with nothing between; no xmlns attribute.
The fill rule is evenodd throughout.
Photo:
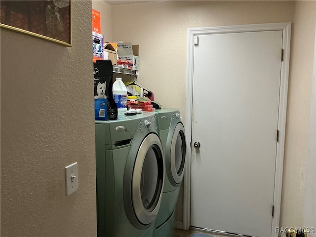
<svg viewBox="0 0 316 237"><path fill-rule="evenodd" d="M152 237L164 185L156 115L95 120L98 237Z"/></svg>

